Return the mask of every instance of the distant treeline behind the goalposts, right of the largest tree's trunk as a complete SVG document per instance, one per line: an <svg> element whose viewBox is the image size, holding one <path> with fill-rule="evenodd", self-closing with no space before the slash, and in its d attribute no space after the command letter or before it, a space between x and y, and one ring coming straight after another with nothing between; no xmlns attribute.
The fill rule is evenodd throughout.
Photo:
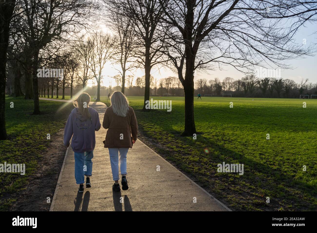
<svg viewBox="0 0 317 233"><path fill-rule="evenodd" d="M222 82L218 78L198 79L195 84L197 93L214 96L232 94L235 97L298 98L302 94L317 94L317 83L313 84L304 78L296 83L290 79L260 79L250 74L239 80L226 77Z"/></svg>

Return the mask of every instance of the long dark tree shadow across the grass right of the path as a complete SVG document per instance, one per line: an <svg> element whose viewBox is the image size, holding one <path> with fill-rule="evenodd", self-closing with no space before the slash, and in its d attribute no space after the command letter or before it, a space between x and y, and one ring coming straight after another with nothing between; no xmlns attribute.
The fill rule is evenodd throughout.
<svg viewBox="0 0 317 233"><path fill-rule="evenodd" d="M144 133L142 127L141 131ZM168 132L173 131L170 125ZM146 133L144 135L151 138ZM204 138L203 141L196 142L201 144L197 146L202 146L203 148L201 148L202 152L197 154L198 159L195 160L195 155L184 152L192 143L189 140L181 137L179 133L175 133L172 140L161 140L159 147L155 143L149 146L156 149L161 156L173 163L178 169L198 179L197 183L200 183L201 186L208 187L211 192L215 191L215 187L217 187L218 191L220 191L217 193L218 196L221 193L218 198L226 198L228 202L230 202L227 199L229 195L235 196L238 200L240 198L244 199L243 207L239 209L244 210L247 205L262 210L278 210L280 207L283 207L284 210L316 209L316 205L312 205L316 201L316 187L314 185L307 184L307 182L301 180L294 180L294 177L286 174L280 167L273 168L258 162L241 153L225 148L210 138ZM178 148L178 150L172 147ZM182 147L184 150L182 150ZM213 152L204 154L203 149L205 147L213 148ZM244 164L244 175L233 175L233 173L217 174L217 164L222 164L223 162L226 164ZM298 169L300 171L302 168L298 167ZM209 173L207 176L204 173L206 170ZM219 188L219 185L223 187ZM268 195L271 200L275 199L274 202L271 201L271 204L266 203ZM305 197L305 200L303 200L303 197ZM256 200L248 201L246 198ZM231 204L234 203L231 201Z"/></svg>

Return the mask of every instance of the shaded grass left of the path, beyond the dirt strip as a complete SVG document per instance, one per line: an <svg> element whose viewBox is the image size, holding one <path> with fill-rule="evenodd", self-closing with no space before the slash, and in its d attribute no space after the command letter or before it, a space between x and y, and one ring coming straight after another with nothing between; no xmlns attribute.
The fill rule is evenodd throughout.
<svg viewBox="0 0 317 233"><path fill-rule="evenodd" d="M10 103L13 102L13 108ZM28 178L39 166L53 135L63 128L71 105L57 101L40 100L41 115L32 115L33 100L6 98L6 130L8 139L0 141L0 164L25 164L25 175L20 173L0 173L0 210L7 210L14 198L7 198L10 193L26 189ZM47 139L47 134L51 139ZM6 194L6 198L3 198Z"/></svg>

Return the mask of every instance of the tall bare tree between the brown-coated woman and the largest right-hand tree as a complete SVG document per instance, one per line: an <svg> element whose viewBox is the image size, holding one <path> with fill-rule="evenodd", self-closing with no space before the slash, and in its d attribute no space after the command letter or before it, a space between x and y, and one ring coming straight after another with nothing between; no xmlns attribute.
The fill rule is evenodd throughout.
<svg viewBox="0 0 317 233"><path fill-rule="evenodd" d="M144 66L145 69L145 92L143 112L146 109L146 100L150 99L150 74L151 69L165 62L160 53L162 45L157 43L160 32L158 30L163 11L158 0L104 0L108 9L118 10L121 16L133 20L133 33L136 46L133 49L135 62Z"/></svg>

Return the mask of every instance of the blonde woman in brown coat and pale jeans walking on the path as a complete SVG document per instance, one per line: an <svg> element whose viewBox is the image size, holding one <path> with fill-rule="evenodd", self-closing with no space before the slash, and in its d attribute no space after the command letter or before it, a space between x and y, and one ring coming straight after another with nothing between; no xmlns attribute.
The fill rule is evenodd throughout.
<svg viewBox="0 0 317 233"><path fill-rule="evenodd" d="M119 167L122 189L127 190L126 154L138 136L138 122L129 100L120 91L110 97L111 106L106 109L102 126L107 130L105 148L109 149L114 184L112 190L120 191ZM132 135L132 136L131 136Z"/></svg>

